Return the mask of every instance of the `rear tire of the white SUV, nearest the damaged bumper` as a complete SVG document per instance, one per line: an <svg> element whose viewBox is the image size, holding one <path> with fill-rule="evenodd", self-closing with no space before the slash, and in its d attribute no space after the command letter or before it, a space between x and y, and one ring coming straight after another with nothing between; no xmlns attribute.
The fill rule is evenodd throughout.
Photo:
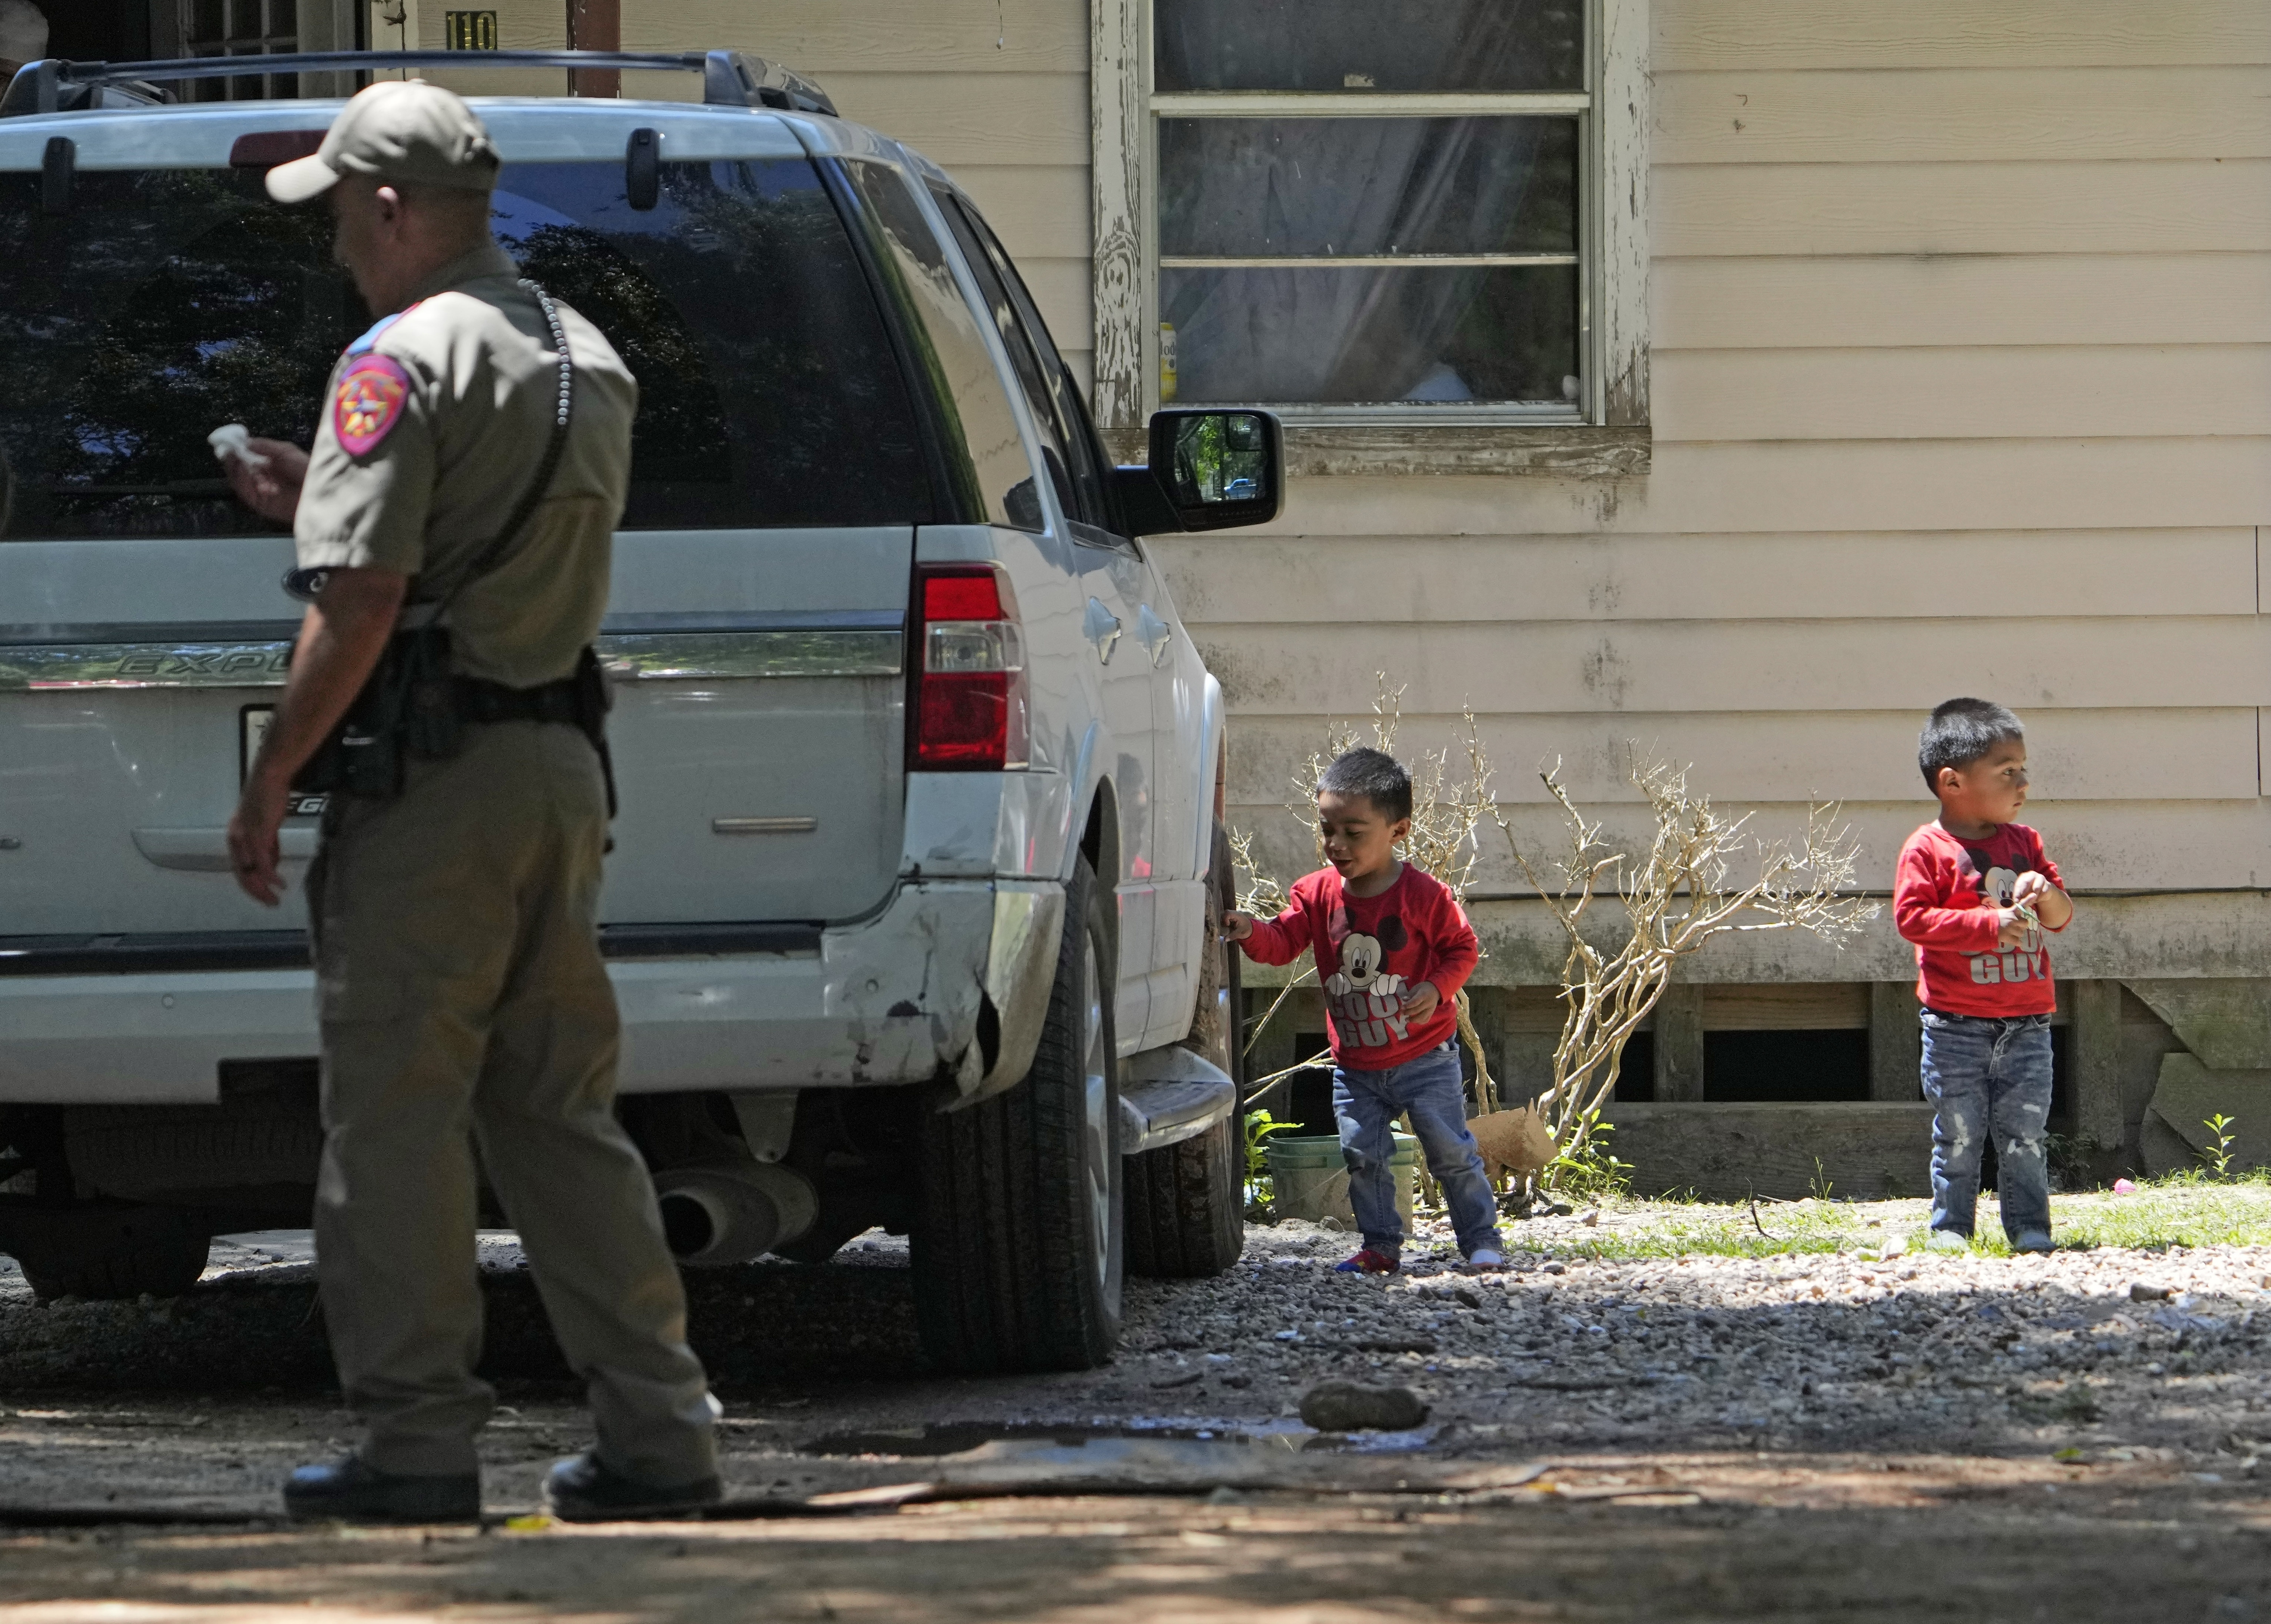
<svg viewBox="0 0 2271 1624"><path fill-rule="evenodd" d="M1122 1156L1111 936L1081 859L1024 1081L922 1120L924 1351L958 1372L1090 1370L1120 1340Z"/></svg>

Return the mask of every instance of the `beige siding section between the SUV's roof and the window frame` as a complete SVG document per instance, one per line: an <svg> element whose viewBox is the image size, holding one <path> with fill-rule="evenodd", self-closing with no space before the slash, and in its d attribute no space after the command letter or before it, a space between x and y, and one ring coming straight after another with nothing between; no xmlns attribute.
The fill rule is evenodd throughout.
<svg viewBox="0 0 2271 1624"><path fill-rule="evenodd" d="M1081 0L627 0L622 43L770 57L818 79L845 118L936 161L1002 234L1065 361L1088 379Z"/></svg>

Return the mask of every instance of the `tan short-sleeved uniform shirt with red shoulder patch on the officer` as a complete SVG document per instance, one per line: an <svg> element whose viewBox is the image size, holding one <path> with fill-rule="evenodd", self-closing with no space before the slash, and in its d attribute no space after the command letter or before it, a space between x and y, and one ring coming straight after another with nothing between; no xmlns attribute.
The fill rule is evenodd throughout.
<svg viewBox="0 0 2271 1624"><path fill-rule="evenodd" d="M559 361L543 309L502 248L443 266L332 370L293 520L302 568L418 577L447 597L527 495L552 438ZM638 382L600 329L559 304L575 416L552 486L504 559L450 609L466 677L534 688L600 631L609 552L631 482Z"/></svg>

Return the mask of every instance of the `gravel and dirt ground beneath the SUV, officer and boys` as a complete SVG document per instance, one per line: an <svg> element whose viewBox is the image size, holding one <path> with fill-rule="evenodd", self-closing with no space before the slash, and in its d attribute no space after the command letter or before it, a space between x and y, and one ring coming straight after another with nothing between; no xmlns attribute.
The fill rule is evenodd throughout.
<svg viewBox="0 0 2271 1624"><path fill-rule="evenodd" d="M0 1272L0 1617L2271 1619L2264 1249L1597 1236L1519 1224L1483 1279L1438 1236L1372 1281L1340 1236L1254 1229L1220 1281L1133 1283L1108 1370L999 1381L922 1370L888 1238L693 1276L729 1506L611 1529L527 1515L588 1429L509 1236L481 1529L275 1520L352 1440L304 1236L216 1247L173 1304ZM1326 1376L1428 1422L1315 1433Z"/></svg>

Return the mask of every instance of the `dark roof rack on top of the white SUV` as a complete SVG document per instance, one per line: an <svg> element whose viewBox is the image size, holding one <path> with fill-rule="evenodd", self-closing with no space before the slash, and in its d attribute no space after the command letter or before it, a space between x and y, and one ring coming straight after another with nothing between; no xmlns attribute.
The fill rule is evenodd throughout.
<svg viewBox="0 0 2271 1624"><path fill-rule="evenodd" d="M170 61L66 61L48 57L16 70L0 95L0 118L68 111L73 91L161 84L168 79L234 79L263 73L377 73L384 68L645 68L699 73L709 107L777 107L827 114L836 102L802 73L738 50L302 50L275 57L177 57Z"/></svg>

